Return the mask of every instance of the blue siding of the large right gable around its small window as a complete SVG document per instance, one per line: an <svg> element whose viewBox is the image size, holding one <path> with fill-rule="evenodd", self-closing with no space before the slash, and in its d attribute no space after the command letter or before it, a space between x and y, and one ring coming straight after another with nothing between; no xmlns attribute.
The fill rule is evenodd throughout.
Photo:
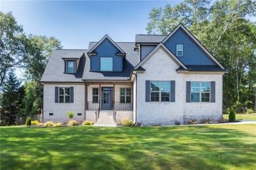
<svg viewBox="0 0 256 170"><path fill-rule="evenodd" d="M164 44L175 56L177 56L177 44L183 45L183 56L177 56L177 58L184 65L216 65L181 27L165 40Z"/></svg>

